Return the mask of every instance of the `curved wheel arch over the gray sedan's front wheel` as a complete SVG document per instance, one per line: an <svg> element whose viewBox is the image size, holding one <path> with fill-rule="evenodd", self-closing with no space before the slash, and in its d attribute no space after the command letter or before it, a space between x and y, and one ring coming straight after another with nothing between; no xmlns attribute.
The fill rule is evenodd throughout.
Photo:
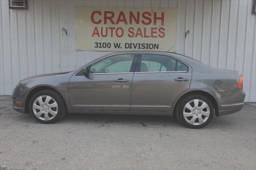
<svg viewBox="0 0 256 170"><path fill-rule="evenodd" d="M54 89L53 87L49 87L49 86L45 86L45 85L44 85L44 86L35 87L34 89L32 89L32 90L28 93L28 95L27 95L27 97L26 97L26 100L25 100L25 113L29 113L28 105L29 105L29 101L30 101L31 97L32 97L36 92L42 91L42 90L52 90L52 91L58 93L58 94L62 97L63 101L65 101L65 100L64 100L64 97L61 95L61 93L60 93L58 90ZM65 103L65 106L67 107L66 101L65 101L64 103Z"/></svg>

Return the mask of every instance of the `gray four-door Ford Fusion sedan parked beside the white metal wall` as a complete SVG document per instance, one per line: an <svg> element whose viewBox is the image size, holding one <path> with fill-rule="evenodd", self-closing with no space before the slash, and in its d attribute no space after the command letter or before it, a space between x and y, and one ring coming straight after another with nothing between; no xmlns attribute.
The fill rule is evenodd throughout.
<svg viewBox="0 0 256 170"><path fill-rule="evenodd" d="M22 79L13 108L40 123L67 113L176 116L189 128L244 105L242 75L168 52L126 51L104 55L74 71Z"/></svg>

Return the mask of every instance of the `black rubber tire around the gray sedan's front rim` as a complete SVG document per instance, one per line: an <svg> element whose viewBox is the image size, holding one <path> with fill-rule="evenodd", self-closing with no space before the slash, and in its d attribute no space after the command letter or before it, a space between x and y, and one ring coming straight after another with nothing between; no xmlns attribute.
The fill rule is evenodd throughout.
<svg viewBox="0 0 256 170"><path fill-rule="evenodd" d="M48 121L39 119L38 117L36 117L36 115L33 112L34 101L36 100L37 97L42 96L42 95L48 95L48 96L52 97L58 104L57 115L53 119L48 120ZM30 111L31 115L34 117L34 119L36 119L36 121L38 121L40 123L44 123L44 124L55 123L56 121L59 121L60 119L62 119L67 113L64 99L62 99L62 97L53 90L42 90L42 91L36 92L31 97L28 107L29 107L29 111Z"/></svg>

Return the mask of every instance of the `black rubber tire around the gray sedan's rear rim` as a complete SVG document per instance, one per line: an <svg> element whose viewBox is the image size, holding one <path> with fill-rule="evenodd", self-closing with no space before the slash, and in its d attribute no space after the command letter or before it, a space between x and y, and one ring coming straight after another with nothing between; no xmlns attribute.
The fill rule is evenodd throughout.
<svg viewBox="0 0 256 170"><path fill-rule="evenodd" d="M209 109L210 109L210 115L209 115L208 119L201 125L192 125L192 124L188 123L183 116L183 109L184 109L185 105L193 99L199 99L199 100L206 102L206 104L209 106ZM214 107L212 105L212 102L207 97L205 97L203 95L189 95L187 97L184 97L184 99L182 99L182 101L180 102L180 104L178 106L177 118L183 125L185 125L188 128L205 127L206 125L208 125L208 123L210 123L213 115L214 115ZM198 119L196 121L198 121Z"/></svg>

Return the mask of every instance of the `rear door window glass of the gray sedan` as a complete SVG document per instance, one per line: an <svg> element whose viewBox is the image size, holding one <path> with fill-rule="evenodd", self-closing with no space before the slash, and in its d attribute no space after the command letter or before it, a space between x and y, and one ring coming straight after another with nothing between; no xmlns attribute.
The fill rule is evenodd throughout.
<svg viewBox="0 0 256 170"><path fill-rule="evenodd" d="M173 57L142 54L140 72L188 71L188 67Z"/></svg>

